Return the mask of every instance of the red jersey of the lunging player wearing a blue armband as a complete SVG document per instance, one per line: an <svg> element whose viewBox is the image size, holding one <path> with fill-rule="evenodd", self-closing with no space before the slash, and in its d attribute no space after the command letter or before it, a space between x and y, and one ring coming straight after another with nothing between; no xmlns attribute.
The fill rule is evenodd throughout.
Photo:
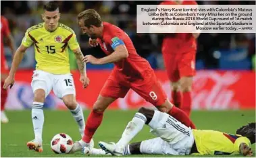
<svg viewBox="0 0 256 158"><path fill-rule="evenodd" d="M114 48L120 44L126 46L129 56L114 63L114 70L122 73L124 76L132 79L141 78L147 75L147 72L153 71L149 62L137 54L130 37L117 26L103 22L103 36L97 40L101 49L107 55L114 52Z"/></svg>

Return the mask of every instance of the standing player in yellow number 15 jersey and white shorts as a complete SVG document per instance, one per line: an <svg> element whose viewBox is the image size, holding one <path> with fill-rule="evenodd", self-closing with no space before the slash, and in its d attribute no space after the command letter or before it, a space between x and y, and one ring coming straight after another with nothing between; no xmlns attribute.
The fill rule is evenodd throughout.
<svg viewBox="0 0 256 158"><path fill-rule="evenodd" d="M22 61L26 49L34 46L36 58L36 70L32 76L32 90L34 91L34 102L32 104L32 123L34 127L34 140L27 143L29 149L43 151L42 132L44 123L43 103L45 97L51 90L71 111L76 120L80 134L84 133L84 116L82 108L76 102L76 89L74 80L70 73L68 47L76 55L80 71L80 81L86 87L89 79L86 76L85 65L82 63L82 52L76 40L74 31L63 24L59 24L59 7L49 1L44 6L42 14L43 23L28 28L22 40L22 44L16 50L11 65L9 76L5 79L3 87L14 84L14 76Z"/></svg>

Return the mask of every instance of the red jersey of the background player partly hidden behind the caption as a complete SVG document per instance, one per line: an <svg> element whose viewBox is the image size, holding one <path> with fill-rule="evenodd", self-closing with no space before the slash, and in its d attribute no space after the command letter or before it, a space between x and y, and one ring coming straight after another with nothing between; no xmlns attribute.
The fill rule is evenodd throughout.
<svg viewBox="0 0 256 158"><path fill-rule="evenodd" d="M175 1L163 1L160 5L179 5ZM197 5L196 1L182 1L180 5ZM191 33L166 34L163 38L163 46L170 47L172 50L187 50L197 48L197 41ZM174 51L180 52L180 51Z"/></svg>

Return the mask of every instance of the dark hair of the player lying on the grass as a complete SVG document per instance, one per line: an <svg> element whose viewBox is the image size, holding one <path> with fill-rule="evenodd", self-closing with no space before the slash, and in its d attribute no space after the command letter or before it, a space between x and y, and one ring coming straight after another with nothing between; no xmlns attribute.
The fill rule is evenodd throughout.
<svg viewBox="0 0 256 158"><path fill-rule="evenodd" d="M255 143L255 122L249 123L236 130L236 134L247 137L251 144Z"/></svg>

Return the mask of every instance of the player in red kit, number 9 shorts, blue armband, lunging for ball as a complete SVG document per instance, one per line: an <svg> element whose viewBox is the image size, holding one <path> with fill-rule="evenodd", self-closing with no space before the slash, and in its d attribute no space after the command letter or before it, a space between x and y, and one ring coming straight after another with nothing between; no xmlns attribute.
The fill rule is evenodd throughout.
<svg viewBox="0 0 256 158"><path fill-rule="evenodd" d="M78 25L83 34L88 34L91 39L97 39L101 49L107 54L103 58L86 55L83 61L94 65L114 63L115 67L87 118L82 140L74 144L72 151L90 147L89 142L101 124L105 109L119 97L124 97L129 89L136 91L161 112L167 112L186 126L195 128L188 116L169 102L153 69L145 58L137 54L132 40L123 30L107 22L101 22L99 13L94 9L79 13ZM89 43L92 44L92 40Z"/></svg>

